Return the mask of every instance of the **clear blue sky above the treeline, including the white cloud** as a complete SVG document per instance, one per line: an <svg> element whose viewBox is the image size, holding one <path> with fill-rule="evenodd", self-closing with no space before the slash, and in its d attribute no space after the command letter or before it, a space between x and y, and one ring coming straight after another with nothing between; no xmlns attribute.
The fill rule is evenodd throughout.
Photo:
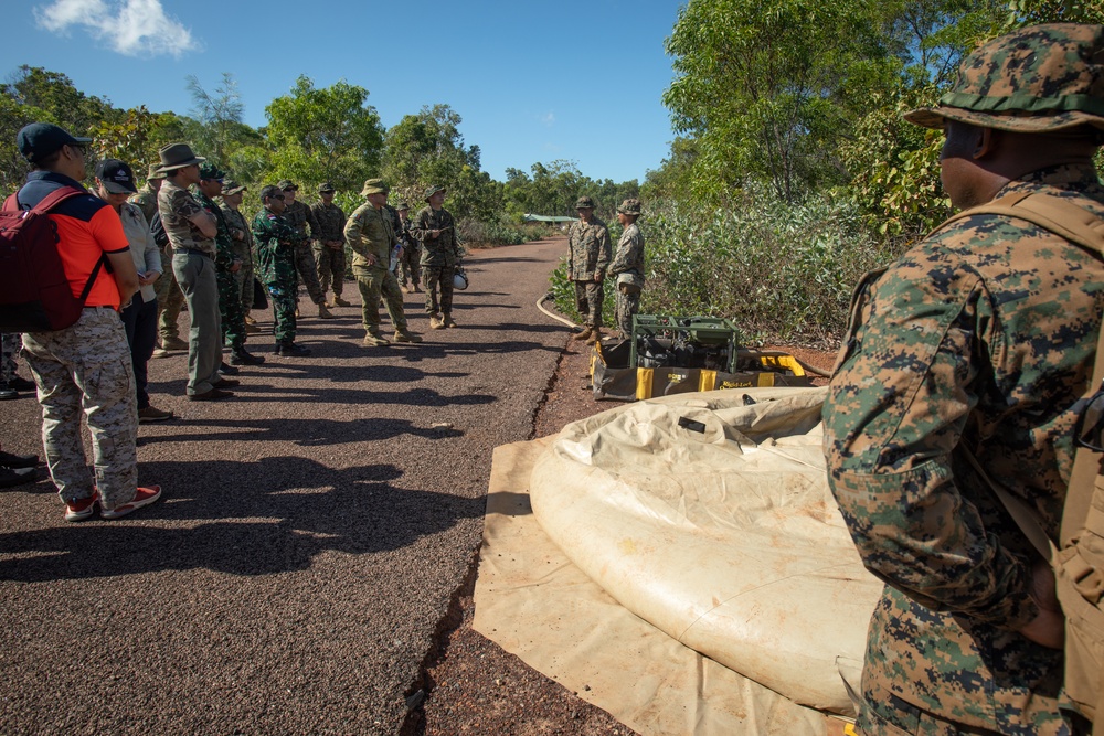
<svg viewBox="0 0 1104 736"><path fill-rule="evenodd" d="M385 127L446 104L482 169L574 161L592 179L644 180L673 138L664 53L686 0L438 3L376 0L31 0L8 9L0 75L66 74L117 107L187 115L185 76L237 81L244 121L306 74L369 90Z"/></svg>

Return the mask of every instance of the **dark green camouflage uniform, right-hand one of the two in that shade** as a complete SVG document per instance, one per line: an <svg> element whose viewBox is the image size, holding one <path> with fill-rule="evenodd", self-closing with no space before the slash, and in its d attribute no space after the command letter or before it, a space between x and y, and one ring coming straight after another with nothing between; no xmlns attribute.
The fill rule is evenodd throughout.
<svg viewBox="0 0 1104 736"><path fill-rule="evenodd" d="M253 218L257 244L257 278L273 300L273 334L276 342L295 342L296 291L295 246L302 236L282 215L263 207Z"/></svg>

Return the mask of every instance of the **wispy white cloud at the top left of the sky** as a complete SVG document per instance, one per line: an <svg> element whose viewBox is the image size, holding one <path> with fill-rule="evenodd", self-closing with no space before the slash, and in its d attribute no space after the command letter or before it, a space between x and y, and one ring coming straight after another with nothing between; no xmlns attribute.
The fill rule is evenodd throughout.
<svg viewBox="0 0 1104 736"><path fill-rule="evenodd" d="M161 0L54 0L35 15L39 25L54 33L84 26L127 56L180 56L197 47L191 32L164 14Z"/></svg>

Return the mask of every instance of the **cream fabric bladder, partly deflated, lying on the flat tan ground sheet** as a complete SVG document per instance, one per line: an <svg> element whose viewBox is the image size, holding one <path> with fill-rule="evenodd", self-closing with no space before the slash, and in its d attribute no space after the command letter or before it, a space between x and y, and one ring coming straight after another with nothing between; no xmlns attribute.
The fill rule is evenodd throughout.
<svg viewBox="0 0 1104 736"><path fill-rule="evenodd" d="M565 427L529 492L548 536L622 606L796 703L850 714L840 671L858 683L882 586L827 486L824 396L620 406Z"/></svg>

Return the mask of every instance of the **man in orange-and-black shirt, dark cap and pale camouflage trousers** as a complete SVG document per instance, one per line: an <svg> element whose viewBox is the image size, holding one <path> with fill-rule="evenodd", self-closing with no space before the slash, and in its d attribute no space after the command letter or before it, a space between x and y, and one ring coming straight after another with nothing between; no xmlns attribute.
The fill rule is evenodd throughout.
<svg viewBox="0 0 1104 736"><path fill-rule="evenodd" d="M138 407L130 348L119 308L138 290L130 245L115 211L87 193L84 147L55 125L34 122L19 131L19 152L31 164L19 205L30 210L62 186L85 193L50 212L57 252L73 295L93 280L81 318L55 332L26 332L23 352L42 397L42 445L50 476L65 502L65 521L118 519L157 501L158 486L138 487ZM110 266L110 273L103 266ZM88 472L81 415L92 434L95 474Z"/></svg>

